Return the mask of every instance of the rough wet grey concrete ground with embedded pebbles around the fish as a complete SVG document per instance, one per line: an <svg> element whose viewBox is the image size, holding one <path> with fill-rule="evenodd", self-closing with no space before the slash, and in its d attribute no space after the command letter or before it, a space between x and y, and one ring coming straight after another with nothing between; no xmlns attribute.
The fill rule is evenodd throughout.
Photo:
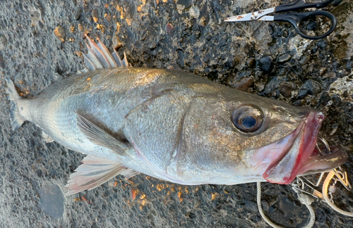
<svg viewBox="0 0 353 228"><path fill-rule="evenodd" d="M268 227L256 208L256 184L183 186L145 175L118 176L63 197L62 209L55 204L83 155L44 143L30 122L12 131L4 78L30 98L52 84L56 73L70 77L83 65L83 32L109 45L116 34L123 44L119 52L126 51L133 66L193 72L325 111L321 135L349 151L345 168L352 177L352 1L327 8L337 16L337 29L318 41L302 39L286 23L222 22L286 3L1 0L0 227ZM51 203L53 211L44 206ZM263 184L262 205L277 224L302 227L309 221L290 186ZM337 205L352 211L352 193L339 191ZM352 227L352 218L325 203L313 207L314 227Z"/></svg>

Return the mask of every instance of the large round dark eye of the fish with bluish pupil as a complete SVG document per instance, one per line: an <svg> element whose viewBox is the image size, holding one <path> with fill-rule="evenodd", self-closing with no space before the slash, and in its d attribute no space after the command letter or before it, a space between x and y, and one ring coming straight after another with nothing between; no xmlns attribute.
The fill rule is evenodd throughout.
<svg viewBox="0 0 353 228"><path fill-rule="evenodd" d="M236 108L232 115L232 122L241 132L256 132L263 125L263 111L252 105Z"/></svg>

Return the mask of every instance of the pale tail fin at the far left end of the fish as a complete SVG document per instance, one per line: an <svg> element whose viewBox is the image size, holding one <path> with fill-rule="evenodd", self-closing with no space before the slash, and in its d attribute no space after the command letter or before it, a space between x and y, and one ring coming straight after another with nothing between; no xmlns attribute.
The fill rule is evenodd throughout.
<svg viewBox="0 0 353 228"><path fill-rule="evenodd" d="M11 110L10 110L11 127L13 130L16 130L25 121L20 115L20 111L18 110L18 107L17 107L17 101L22 98L18 95L13 82L10 79L6 79L6 82L7 82L6 93L8 94L8 99L11 101L10 103L11 104Z"/></svg>

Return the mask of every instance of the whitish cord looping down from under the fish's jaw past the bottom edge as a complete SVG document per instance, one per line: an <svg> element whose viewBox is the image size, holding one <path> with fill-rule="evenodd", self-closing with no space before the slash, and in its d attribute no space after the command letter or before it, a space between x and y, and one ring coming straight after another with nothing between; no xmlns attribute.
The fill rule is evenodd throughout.
<svg viewBox="0 0 353 228"><path fill-rule="evenodd" d="M263 208L261 206L261 182L257 182L257 186L258 186L258 194L257 194L258 212L260 213L261 217L263 217L263 220L265 220L265 222L267 222L271 227L282 228L282 227L278 226L277 224L273 223L268 217L266 217L265 213L263 213ZM296 190L297 189L294 189L294 191L296 191ZM313 211L313 207L311 206L313 199L310 198L309 196L304 195L304 194L298 194L298 198L299 198L299 201L301 201L301 203L306 205L306 208L308 208L309 213L310 213L310 220L309 220L308 224L306 224L306 226L303 228L311 228L311 227L313 227L313 224L315 222L315 212Z"/></svg>

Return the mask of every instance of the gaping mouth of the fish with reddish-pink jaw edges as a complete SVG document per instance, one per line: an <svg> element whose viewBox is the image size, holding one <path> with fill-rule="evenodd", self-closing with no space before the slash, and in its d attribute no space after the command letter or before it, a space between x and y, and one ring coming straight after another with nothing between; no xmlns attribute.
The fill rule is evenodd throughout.
<svg viewBox="0 0 353 228"><path fill-rule="evenodd" d="M263 178L270 183L290 184L299 175L332 170L347 160L347 153L338 148L333 153L318 155L315 150L318 130L325 119L323 113L311 110L306 119L291 134L273 144L258 148L266 153ZM265 166L264 166L265 165ZM266 168L267 166L267 168Z"/></svg>

